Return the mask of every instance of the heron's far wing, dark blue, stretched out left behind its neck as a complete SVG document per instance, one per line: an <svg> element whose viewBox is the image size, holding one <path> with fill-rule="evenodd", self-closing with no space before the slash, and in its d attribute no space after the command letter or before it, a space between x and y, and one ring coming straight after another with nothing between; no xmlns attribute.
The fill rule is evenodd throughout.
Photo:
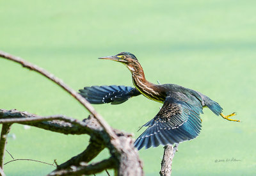
<svg viewBox="0 0 256 176"><path fill-rule="evenodd" d="M92 104L121 104L131 97L138 96L141 93L130 86L92 86L84 87L83 90L79 90L88 102Z"/></svg>

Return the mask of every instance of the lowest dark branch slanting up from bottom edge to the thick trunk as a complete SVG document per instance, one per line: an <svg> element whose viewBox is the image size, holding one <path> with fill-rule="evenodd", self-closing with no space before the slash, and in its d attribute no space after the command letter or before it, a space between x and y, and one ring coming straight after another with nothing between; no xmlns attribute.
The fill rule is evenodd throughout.
<svg viewBox="0 0 256 176"><path fill-rule="evenodd" d="M86 163L81 163L82 166L71 166L68 170L56 170L49 173L49 176L55 175L92 175L93 173L99 173L106 169L115 169L118 165L114 157L109 157L109 159L104 159L98 163L92 163L86 165Z"/></svg>

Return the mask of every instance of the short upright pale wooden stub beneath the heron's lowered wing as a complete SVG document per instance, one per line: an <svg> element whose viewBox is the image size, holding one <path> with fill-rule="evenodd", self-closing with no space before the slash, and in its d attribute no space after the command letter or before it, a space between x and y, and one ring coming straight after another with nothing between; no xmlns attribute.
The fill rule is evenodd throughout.
<svg viewBox="0 0 256 176"><path fill-rule="evenodd" d="M173 145L164 146L164 156L161 162L161 171L159 172L161 176L170 176L172 173L172 160L175 152L178 151L178 144L174 147Z"/></svg>

